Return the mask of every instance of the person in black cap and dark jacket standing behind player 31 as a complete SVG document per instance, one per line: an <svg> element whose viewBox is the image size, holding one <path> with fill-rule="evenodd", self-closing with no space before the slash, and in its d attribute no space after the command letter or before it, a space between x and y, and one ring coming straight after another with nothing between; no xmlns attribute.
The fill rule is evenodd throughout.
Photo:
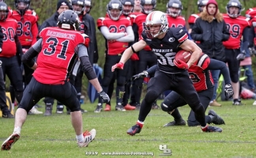
<svg viewBox="0 0 256 158"><path fill-rule="evenodd" d="M71 9L70 2L68 2L68 0L58 0L56 12L51 17L49 17L46 21L43 21L43 24L41 24L41 26L40 26L40 31L43 28L56 27L57 26L57 22L58 22L58 16L63 11L65 11L67 9ZM45 116L49 116L49 115L51 115L52 106L54 104L54 99L49 98L49 97L45 97L45 99L43 101L45 103L44 115ZM63 104L60 103L60 102L57 102L56 113L57 114L62 114L63 113L63 109L64 109Z"/></svg>

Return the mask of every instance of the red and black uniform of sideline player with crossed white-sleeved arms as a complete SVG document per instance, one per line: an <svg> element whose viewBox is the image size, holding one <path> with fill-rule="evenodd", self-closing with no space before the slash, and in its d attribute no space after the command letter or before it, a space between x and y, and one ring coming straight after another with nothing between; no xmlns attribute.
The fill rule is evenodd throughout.
<svg viewBox="0 0 256 158"><path fill-rule="evenodd" d="M108 31L110 33L113 33L115 36L115 33L124 32L126 33L126 28L131 27L132 23L129 19L127 19L124 16L120 16L119 20L114 21L112 20L108 15L106 17L100 17L97 20L97 27L100 29L101 27L107 27ZM125 82L126 82L126 75L128 73L128 70L130 69L129 66L127 66L123 70L117 70L116 73L111 72L111 66L114 65L116 62L119 62L121 55L123 51L126 50L127 47L129 47L128 42L120 42L117 40L106 40L106 51L105 51L105 64L104 64L104 77L102 80L102 87L104 89L104 92L110 92L108 91L109 85L113 85L113 81L117 81L117 87L116 87L116 94L117 94L117 100L116 105L122 106L122 98L119 97L119 92L124 92L125 89ZM99 100L99 103L102 103L101 100ZM99 105L99 104L98 104ZM108 104L110 106L110 104ZM105 109L105 111L107 111Z"/></svg>

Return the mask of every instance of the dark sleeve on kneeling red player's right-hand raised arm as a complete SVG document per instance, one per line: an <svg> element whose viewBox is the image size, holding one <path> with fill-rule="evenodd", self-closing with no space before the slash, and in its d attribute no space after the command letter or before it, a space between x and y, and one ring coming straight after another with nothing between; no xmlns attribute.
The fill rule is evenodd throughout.
<svg viewBox="0 0 256 158"><path fill-rule="evenodd" d="M221 62L219 60L213 58L211 58L210 60L211 62L209 63L207 70L220 70L220 73L224 77L225 85L231 84L228 66L226 66L224 62Z"/></svg>

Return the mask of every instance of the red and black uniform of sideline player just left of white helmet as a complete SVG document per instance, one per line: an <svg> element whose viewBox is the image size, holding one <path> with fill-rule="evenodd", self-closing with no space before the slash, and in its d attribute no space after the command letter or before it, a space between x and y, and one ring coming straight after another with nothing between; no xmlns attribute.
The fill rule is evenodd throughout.
<svg viewBox="0 0 256 158"><path fill-rule="evenodd" d="M134 35L135 42L142 40L141 33L145 30L145 19L148 14L140 13L134 19ZM138 52L139 61L137 63L136 72L141 73L143 70L147 70L149 67L156 65L156 55L152 53L149 46L146 46L143 50ZM130 105L139 106L141 103L141 89L143 84L143 78L138 78L134 81L134 94L131 96Z"/></svg>

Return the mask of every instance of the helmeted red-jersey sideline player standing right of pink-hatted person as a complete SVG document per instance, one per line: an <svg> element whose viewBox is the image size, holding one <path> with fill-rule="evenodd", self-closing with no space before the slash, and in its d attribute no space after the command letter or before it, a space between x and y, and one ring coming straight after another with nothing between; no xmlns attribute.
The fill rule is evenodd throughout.
<svg viewBox="0 0 256 158"><path fill-rule="evenodd" d="M232 87L234 88L233 105L242 105L239 100L239 66L240 61L246 56L249 46L249 29L250 22L246 17L240 15L242 5L239 0L230 0L226 6L227 13L223 14L224 21L230 32L228 41L224 41L226 62L232 79ZM243 36L243 48L240 51L241 37Z"/></svg>

